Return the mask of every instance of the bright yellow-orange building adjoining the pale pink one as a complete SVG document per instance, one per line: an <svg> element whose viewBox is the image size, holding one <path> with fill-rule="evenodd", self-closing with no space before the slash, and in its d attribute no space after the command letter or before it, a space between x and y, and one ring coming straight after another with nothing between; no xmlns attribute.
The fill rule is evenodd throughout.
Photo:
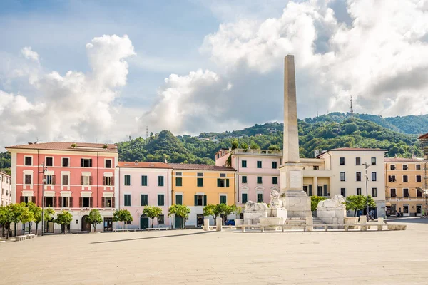
<svg viewBox="0 0 428 285"><path fill-rule="evenodd" d="M190 208L186 227L202 227L203 207L208 204L235 204L235 169L215 165L169 165L173 167L172 204ZM180 222L176 218L175 227L179 227Z"/></svg>

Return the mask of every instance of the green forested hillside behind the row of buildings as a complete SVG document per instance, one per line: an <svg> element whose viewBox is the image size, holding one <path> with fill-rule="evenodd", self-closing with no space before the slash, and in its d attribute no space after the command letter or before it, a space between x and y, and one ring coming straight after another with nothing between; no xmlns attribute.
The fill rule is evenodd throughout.
<svg viewBox="0 0 428 285"><path fill-rule="evenodd" d="M366 120L363 120L366 119ZM382 118L375 115L330 113L299 120L300 156L313 157L314 150L337 147L378 147L387 156L422 156L417 133L428 133L428 115ZM119 160L165 161L214 164L215 152L230 147L233 140L243 147L270 146L282 148L282 123L253 125L243 130L224 133L201 133L174 136L168 130L150 138L119 142ZM0 168L9 167L11 156L0 153Z"/></svg>

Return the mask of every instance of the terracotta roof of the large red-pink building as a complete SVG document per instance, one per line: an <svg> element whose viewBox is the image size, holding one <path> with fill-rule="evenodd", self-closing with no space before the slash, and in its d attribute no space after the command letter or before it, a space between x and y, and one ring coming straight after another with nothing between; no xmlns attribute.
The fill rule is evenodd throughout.
<svg viewBox="0 0 428 285"><path fill-rule="evenodd" d="M76 144L76 147L71 145ZM107 145L107 148L104 148ZM29 145L13 145L6 147L6 150L71 150L71 151L87 151L87 152L118 152L117 145L91 142L42 142Z"/></svg>

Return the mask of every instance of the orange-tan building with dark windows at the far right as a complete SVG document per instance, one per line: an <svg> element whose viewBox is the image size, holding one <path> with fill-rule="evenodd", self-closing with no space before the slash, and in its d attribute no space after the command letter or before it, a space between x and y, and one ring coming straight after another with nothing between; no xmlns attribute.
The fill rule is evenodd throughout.
<svg viewBox="0 0 428 285"><path fill-rule="evenodd" d="M425 208L424 162L422 159L385 158L384 180L387 216L420 216ZM419 190L418 190L419 188Z"/></svg>

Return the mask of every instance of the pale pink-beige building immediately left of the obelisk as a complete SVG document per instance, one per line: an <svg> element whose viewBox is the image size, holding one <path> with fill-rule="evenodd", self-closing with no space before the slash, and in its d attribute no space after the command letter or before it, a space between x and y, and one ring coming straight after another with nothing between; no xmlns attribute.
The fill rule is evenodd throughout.
<svg viewBox="0 0 428 285"><path fill-rule="evenodd" d="M280 190L282 152L271 150L221 149L215 154L215 165L225 166L229 156L236 170L236 204L247 201L270 202L270 191Z"/></svg>

